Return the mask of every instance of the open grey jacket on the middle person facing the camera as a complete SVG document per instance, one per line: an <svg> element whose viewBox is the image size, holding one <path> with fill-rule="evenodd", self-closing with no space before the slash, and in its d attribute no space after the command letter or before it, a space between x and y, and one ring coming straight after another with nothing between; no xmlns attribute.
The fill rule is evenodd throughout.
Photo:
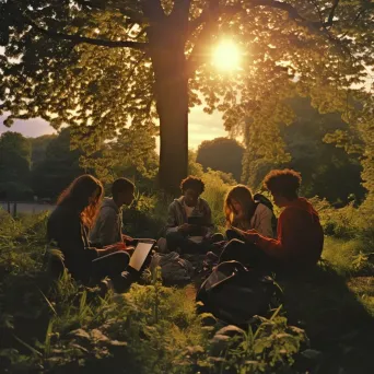
<svg viewBox="0 0 374 374"><path fill-rule="evenodd" d="M178 226L184 223L187 223L187 215L184 208L184 196L179 199L175 199L168 206L168 217L166 223L166 234L177 231ZM212 212L209 208L208 202L199 198L198 202L192 211L192 215L199 215L204 219L206 227L208 229L208 235L212 234L213 232L213 223L212 223Z"/></svg>

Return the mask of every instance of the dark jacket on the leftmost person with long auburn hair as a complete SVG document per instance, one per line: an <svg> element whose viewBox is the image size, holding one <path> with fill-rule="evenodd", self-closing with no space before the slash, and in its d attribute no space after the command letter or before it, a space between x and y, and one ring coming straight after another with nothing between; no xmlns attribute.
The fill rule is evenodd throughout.
<svg viewBox="0 0 374 374"><path fill-rule="evenodd" d="M70 206L58 206L47 223L48 241L54 241L65 256L65 265L71 276L83 282L89 281L92 260L97 250L90 247L87 229L80 213Z"/></svg>

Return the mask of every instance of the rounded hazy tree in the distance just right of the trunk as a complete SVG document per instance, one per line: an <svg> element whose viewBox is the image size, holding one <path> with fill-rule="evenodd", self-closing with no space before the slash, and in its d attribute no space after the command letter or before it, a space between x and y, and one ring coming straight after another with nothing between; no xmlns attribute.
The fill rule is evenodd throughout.
<svg viewBox="0 0 374 374"><path fill-rule="evenodd" d="M206 140L199 145L196 161L204 171L210 167L231 173L236 180L241 180L243 154L244 148L236 140L215 138Z"/></svg>

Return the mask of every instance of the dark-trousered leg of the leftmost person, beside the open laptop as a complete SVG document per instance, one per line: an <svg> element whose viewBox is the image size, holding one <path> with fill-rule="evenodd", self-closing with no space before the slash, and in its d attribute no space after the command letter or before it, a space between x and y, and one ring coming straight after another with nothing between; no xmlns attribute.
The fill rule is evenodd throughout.
<svg viewBox="0 0 374 374"><path fill-rule="evenodd" d="M100 281L105 277L118 277L122 271L126 271L129 261L129 254L122 250L100 257L92 261L92 278L94 281Z"/></svg>

